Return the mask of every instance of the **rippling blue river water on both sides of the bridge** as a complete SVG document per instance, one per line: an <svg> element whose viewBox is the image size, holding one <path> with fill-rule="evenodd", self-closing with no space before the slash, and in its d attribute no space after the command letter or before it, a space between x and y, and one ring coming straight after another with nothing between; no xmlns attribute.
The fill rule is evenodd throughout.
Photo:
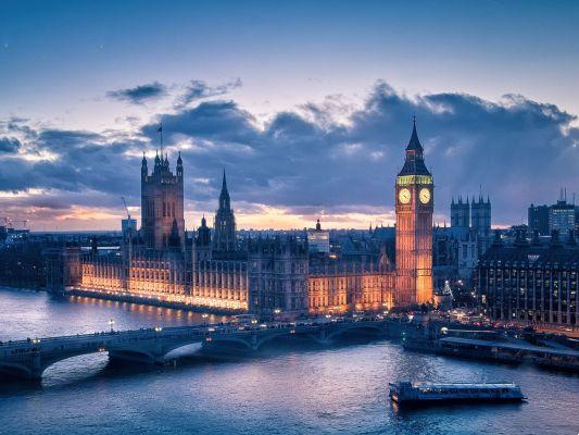
<svg viewBox="0 0 579 435"><path fill-rule="evenodd" d="M0 288L0 340L193 324L199 313ZM222 316L207 321L219 322ZM37 384L0 385L0 434L577 434L579 377L531 366L404 351L393 341L272 348L177 363L110 366L106 355L61 361ZM389 382L513 381L528 402L413 411Z"/></svg>

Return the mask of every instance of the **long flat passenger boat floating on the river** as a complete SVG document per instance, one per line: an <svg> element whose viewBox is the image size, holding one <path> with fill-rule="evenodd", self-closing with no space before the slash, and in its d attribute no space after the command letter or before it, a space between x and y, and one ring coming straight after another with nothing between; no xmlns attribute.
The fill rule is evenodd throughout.
<svg viewBox="0 0 579 435"><path fill-rule="evenodd" d="M449 402L505 402L523 401L520 387L513 383L390 383L390 399L398 405L435 405Z"/></svg>

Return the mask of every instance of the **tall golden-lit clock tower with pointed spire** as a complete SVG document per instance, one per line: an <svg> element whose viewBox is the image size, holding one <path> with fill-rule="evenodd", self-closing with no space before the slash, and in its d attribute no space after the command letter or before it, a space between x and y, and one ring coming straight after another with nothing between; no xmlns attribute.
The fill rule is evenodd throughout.
<svg viewBox="0 0 579 435"><path fill-rule="evenodd" d="M432 175L424 161L416 119L397 176L397 306L412 307L432 299Z"/></svg>

